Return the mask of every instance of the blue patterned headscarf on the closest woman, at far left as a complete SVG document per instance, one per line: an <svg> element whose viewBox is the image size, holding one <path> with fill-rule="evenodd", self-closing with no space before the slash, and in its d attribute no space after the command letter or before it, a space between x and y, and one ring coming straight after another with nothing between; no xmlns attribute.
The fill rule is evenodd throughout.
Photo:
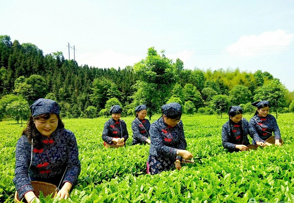
<svg viewBox="0 0 294 203"><path fill-rule="evenodd" d="M53 113L57 115L60 113L60 107L56 101L43 98L36 100L29 108L33 117L45 113Z"/></svg>

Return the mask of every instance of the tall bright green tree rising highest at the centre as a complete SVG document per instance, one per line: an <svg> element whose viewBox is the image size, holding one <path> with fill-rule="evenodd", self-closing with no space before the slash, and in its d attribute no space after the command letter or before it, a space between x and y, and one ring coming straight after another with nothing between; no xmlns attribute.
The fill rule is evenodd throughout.
<svg viewBox="0 0 294 203"><path fill-rule="evenodd" d="M177 65L178 68L181 67L179 61ZM171 88L178 78L178 69L171 59L165 57L164 51L160 56L154 47L151 47L148 49L146 59L142 59L134 65L134 71L141 80L137 81L135 85L138 88L134 99L145 101L148 113L152 116L152 112L159 109L168 100ZM151 118L149 117L149 119Z"/></svg>

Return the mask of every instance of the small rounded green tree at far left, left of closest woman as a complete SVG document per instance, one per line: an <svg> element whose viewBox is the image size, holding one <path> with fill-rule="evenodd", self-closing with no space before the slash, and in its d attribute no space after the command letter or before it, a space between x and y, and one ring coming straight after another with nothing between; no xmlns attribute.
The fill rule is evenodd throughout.
<svg viewBox="0 0 294 203"><path fill-rule="evenodd" d="M11 118L17 121L18 124L21 119L22 127L23 120L27 119L30 113L29 105L24 99L11 102L6 106L6 111Z"/></svg>

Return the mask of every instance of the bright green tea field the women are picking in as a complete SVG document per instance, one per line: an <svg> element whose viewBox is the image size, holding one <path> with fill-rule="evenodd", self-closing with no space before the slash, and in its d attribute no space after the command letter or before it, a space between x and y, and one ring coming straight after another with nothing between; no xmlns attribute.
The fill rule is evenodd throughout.
<svg viewBox="0 0 294 203"><path fill-rule="evenodd" d="M152 117L154 122L159 115ZM244 116L247 120L250 115ZM108 118L63 119L76 136L81 174L70 203L294 203L294 114L279 114L284 145L226 153L221 127L227 116L183 116L187 150L195 164L180 171L146 174L149 146L132 146L133 117L122 118L130 138L125 148L105 149L101 134ZM24 125L25 127L25 125ZM15 146L24 129L0 122L0 202L13 203ZM251 138L249 138L251 140ZM57 199L41 198L43 203Z"/></svg>

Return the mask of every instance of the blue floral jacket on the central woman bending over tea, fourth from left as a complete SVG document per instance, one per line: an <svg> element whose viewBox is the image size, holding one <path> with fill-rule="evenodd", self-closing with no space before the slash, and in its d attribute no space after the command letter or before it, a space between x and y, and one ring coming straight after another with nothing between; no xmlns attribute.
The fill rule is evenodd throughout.
<svg viewBox="0 0 294 203"><path fill-rule="evenodd" d="M185 150L187 147L182 121L175 127L170 127L161 117L151 124L149 133L151 139L149 156L169 158L172 162L175 159L182 160L181 156L176 156L177 150Z"/></svg>

